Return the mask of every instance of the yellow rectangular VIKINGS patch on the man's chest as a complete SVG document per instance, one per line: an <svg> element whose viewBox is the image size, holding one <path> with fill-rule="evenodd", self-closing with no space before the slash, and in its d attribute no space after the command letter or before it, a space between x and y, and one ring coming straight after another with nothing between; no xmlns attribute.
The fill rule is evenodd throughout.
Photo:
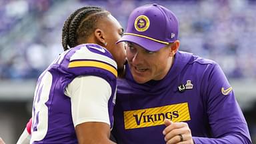
<svg viewBox="0 0 256 144"><path fill-rule="evenodd" d="M164 125L163 121L165 119L170 119L173 122L190 120L188 103L124 111L123 114L125 129Z"/></svg>

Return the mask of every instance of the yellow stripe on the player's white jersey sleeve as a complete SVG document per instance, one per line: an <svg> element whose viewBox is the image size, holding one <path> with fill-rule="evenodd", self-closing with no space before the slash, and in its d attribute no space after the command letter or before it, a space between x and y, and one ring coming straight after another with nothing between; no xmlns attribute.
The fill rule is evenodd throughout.
<svg viewBox="0 0 256 144"><path fill-rule="evenodd" d="M117 69L99 61L73 61L69 63L69 68L71 67L98 67L110 71L115 75L115 77L117 77Z"/></svg>

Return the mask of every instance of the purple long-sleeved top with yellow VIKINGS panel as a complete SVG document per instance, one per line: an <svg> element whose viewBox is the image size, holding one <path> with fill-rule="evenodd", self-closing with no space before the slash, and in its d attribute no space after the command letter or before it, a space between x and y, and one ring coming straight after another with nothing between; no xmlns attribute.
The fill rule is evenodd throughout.
<svg viewBox="0 0 256 144"><path fill-rule="evenodd" d="M178 51L161 81L135 83L126 72L117 80L117 143L165 143L164 119L188 123L195 143L250 143L232 87L214 61Z"/></svg>

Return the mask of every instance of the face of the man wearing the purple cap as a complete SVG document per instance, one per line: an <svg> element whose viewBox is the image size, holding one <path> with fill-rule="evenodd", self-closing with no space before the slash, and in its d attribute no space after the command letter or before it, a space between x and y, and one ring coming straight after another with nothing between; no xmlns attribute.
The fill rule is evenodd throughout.
<svg viewBox="0 0 256 144"><path fill-rule="evenodd" d="M171 67L170 51L169 46L153 52L135 43L128 43L127 60L133 79L137 83L163 79Z"/></svg>

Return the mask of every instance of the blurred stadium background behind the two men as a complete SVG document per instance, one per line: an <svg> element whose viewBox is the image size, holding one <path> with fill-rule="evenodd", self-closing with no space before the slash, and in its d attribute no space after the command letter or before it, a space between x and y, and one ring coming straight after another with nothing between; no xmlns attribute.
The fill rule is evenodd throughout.
<svg viewBox="0 0 256 144"><path fill-rule="evenodd" d="M159 3L177 14L181 50L217 61L235 91L256 143L256 1L0 1L0 137L16 143L31 117L39 74L61 51L65 19L84 5L104 7L126 28L129 13Z"/></svg>

